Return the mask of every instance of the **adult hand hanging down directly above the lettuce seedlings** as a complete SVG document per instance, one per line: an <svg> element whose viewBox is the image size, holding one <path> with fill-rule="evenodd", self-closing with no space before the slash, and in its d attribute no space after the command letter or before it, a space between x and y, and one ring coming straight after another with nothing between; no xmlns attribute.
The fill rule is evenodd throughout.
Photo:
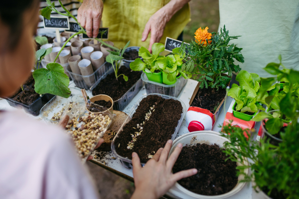
<svg viewBox="0 0 299 199"><path fill-rule="evenodd" d="M145 41L148 38L150 32L150 40L149 40L150 53L151 53L152 44L159 42L161 37L163 36L164 28L168 19L169 19L169 15L167 14L166 9L164 7L156 11L149 18L145 30L142 33L141 41Z"/></svg>

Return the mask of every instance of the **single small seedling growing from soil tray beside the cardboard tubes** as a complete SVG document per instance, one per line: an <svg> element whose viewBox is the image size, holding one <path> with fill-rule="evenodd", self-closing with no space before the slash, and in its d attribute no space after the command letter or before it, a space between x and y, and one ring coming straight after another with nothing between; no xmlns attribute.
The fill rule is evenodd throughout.
<svg viewBox="0 0 299 199"><path fill-rule="evenodd" d="M113 67L116 79L119 76L123 75L124 76L124 80L126 82L128 81L128 77L125 76L124 74L118 75L118 71L119 71L120 66L121 66L121 60L124 59L123 54L124 54L125 50L127 49L127 47L129 46L129 44L130 44L130 41L126 44L126 46L122 50L121 56L119 56L118 52L108 50L110 52L110 54L106 57L106 61L112 64L112 67Z"/></svg>

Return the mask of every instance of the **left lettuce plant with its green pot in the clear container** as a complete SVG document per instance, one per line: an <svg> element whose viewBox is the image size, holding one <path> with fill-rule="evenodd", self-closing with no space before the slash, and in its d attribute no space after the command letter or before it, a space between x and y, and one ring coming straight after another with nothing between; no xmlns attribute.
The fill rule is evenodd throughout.
<svg viewBox="0 0 299 199"><path fill-rule="evenodd" d="M159 54L164 51L164 45L161 43L154 43L151 47L152 54L149 53L149 50L145 47L139 49L139 56L143 58L135 59L134 62L130 63L130 68L133 71L143 71L150 81L162 83L162 72L159 70L158 60L164 58Z"/></svg>

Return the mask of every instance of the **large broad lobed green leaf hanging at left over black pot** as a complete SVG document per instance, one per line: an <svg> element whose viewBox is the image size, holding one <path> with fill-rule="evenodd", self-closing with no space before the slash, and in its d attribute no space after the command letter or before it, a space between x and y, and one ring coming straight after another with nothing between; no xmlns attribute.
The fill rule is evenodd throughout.
<svg viewBox="0 0 299 199"><path fill-rule="evenodd" d="M36 93L52 94L63 98L70 97L71 91L68 88L70 80L60 64L49 63L47 69L35 70L32 75L35 80L34 91Z"/></svg>

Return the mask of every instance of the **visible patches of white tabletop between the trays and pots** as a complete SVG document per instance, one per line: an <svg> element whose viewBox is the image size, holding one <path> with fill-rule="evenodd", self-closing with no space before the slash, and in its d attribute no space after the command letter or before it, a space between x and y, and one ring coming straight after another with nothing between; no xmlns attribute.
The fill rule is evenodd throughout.
<svg viewBox="0 0 299 199"><path fill-rule="evenodd" d="M185 87L183 88L182 92L179 94L178 98L180 100L182 100L185 105L186 105L186 108L189 107L189 100L193 94L193 91L197 85L197 81L194 81L194 80L188 80L187 81L187 84L185 85ZM69 88L71 89L72 91L72 94L73 95L79 95L81 92L80 92L80 89L79 88L75 88L75 85L73 83L73 81L71 81L70 83L70 86ZM91 95L91 92L87 92L87 94L89 96L92 96ZM127 105L127 107L123 110L124 112L126 113L129 113L131 108L134 106L134 104L136 103L136 101L138 99L140 99L141 97L143 97L144 95L146 95L146 90L145 90L145 87L142 88L142 90L137 94L137 96ZM213 130L214 131L217 131L219 132L220 131L220 127L218 127L219 125L222 125L223 124L223 121L224 121L224 117L225 117L225 114L229 108L229 105L230 103L232 102L232 98L228 97L227 100L226 100L226 105L225 105L225 108L226 110L224 110L224 107L222 108L220 114L219 114L219 117L216 121L216 124L214 125L214 128ZM13 110L14 107L10 106L6 100L3 100L3 99L0 99L0 110ZM32 115L29 115L27 114L28 117L32 117L32 118L35 118L35 119L39 119L41 120L41 116L32 116ZM258 132L259 130L259 127L260 127L260 123L257 123L256 124L256 132ZM188 129L187 129L187 126L186 126L186 122L185 122L185 119L179 129L179 132L177 134L177 137L180 136L180 135L183 135L185 133L188 133ZM255 135L256 137L256 135ZM253 139L255 139L255 137ZM113 160L112 159L113 157L113 154L112 155L107 155L104 159L107 159L107 162L106 165L114 170L117 170L125 175L128 175L130 177L133 177L133 173L132 173L132 169L127 169L125 167L123 167L122 163L120 162L120 160L116 159L116 160ZM192 197L188 197L186 195L184 195L181 191L177 190L177 189L174 189L174 188L171 188L167 194L167 196L171 197L171 198L175 198L175 199L194 199ZM252 185L251 183L248 183L247 185L244 186L244 188L238 192L237 194L235 194L234 196L232 197L229 197L227 199L263 199L263 195L262 194L256 194L255 191L253 191L252 189Z"/></svg>

